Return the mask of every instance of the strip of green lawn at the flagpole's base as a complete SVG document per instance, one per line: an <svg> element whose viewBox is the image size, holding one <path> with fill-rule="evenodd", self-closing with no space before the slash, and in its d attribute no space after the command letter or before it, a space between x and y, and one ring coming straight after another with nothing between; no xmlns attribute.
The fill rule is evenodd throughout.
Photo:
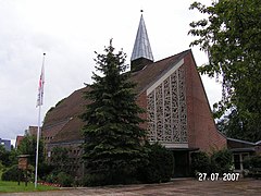
<svg viewBox="0 0 261 196"><path fill-rule="evenodd" d="M51 189L58 189L52 186L44 186L44 185L37 185L37 188L35 188L34 183L28 183L27 186L25 186L24 182L21 182L20 185L17 182L9 182L9 181L0 181L0 193L14 193L14 192L44 192L44 191L51 191Z"/></svg>

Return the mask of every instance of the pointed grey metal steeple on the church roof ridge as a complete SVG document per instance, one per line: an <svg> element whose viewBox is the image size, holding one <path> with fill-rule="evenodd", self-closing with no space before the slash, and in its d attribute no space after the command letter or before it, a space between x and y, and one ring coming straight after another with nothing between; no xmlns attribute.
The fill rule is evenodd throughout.
<svg viewBox="0 0 261 196"><path fill-rule="evenodd" d="M145 21L142 16L142 10L138 26L138 32L136 35L133 54L130 58L130 70L138 71L141 70L146 64L153 62L153 56L150 48L149 37L145 26Z"/></svg>

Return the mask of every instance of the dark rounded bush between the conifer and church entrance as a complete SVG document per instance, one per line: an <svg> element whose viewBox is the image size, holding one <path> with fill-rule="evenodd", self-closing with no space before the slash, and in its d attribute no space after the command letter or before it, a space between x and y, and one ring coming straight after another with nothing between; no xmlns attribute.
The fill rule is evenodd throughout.
<svg viewBox="0 0 261 196"><path fill-rule="evenodd" d="M160 183L171 180L174 170L174 156L160 144L148 145L149 162L139 169L138 179L144 183Z"/></svg>

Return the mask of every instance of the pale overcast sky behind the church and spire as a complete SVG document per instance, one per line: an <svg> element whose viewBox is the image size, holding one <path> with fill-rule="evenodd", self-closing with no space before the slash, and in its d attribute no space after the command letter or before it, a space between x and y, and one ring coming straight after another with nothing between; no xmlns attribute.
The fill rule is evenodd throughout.
<svg viewBox="0 0 261 196"><path fill-rule="evenodd" d="M129 61L144 9L154 60L189 48L189 23L201 19L188 10L194 0L0 0L0 138L15 139L37 125L37 88L42 53L46 83L41 119L59 100L91 83L94 51L113 38L113 46ZM211 0L200 0L210 4ZM192 48L198 65L208 61ZM207 76L210 103L221 88Z"/></svg>

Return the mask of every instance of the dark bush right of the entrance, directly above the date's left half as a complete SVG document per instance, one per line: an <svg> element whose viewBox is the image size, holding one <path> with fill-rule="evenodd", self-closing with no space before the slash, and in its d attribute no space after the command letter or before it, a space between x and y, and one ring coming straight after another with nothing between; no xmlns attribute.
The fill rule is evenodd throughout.
<svg viewBox="0 0 261 196"><path fill-rule="evenodd" d="M206 152L199 151L191 154L191 172L192 174L197 172L210 173L210 158Z"/></svg>

